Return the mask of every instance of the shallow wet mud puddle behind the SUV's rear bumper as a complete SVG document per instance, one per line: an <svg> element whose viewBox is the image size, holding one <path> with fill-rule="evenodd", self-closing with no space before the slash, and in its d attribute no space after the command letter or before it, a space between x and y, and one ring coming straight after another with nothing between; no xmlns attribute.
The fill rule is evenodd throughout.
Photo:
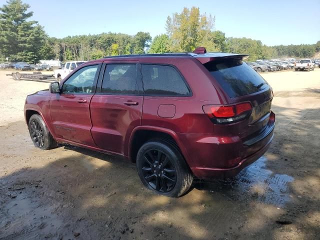
<svg viewBox="0 0 320 240"><path fill-rule="evenodd" d="M266 157L262 156L244 168L234 178L196 183L199 190L220 192L236 200L254 200L274 206L283 206L290 200L288 183L294 178L286 174L276 174L267 169Z"/></svg>

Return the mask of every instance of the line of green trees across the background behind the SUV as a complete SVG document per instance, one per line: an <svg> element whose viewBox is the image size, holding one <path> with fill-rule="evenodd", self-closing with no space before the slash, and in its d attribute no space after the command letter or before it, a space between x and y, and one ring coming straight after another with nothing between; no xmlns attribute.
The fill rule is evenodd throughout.
<svg viewBox="0 0 320 240"><path fill-rule="evenodd" d="M0 60L37 62L39 59L90 60L109 55L188 52L197 46L207 51L249 54L248 60L278 57L311 57L320 51L315 44L266 46L260 40L225 37L214 30L215 17L201 14L198 7L183 8L167 17L166 33L151 41L148 32L135 35L101 33L63 38L49 37L33 12L21 0L7 0L0 7Z"/></svg>

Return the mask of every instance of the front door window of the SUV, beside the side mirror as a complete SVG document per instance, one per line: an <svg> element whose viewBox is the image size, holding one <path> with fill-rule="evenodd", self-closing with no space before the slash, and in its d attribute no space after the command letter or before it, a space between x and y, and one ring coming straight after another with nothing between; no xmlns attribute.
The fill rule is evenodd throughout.
<svg viewBox="0 0 320 240"><path fill-rule="evenodd" d="M63 93L91 93L97 65L85 66L72 74L62 86Z"/></svg>

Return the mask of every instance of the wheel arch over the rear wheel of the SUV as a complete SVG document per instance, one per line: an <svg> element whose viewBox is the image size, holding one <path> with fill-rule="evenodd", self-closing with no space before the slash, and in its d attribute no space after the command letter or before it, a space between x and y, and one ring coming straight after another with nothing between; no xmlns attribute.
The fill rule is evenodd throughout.
<svg viewBox="0 0 320 240"><path fill-rule="evenodd" d="M162 138L173 141L173 143L179 148L182 156L184 157L187 165L190 163L187 151L177 134L167 128L154 127L154 126L137 126L135 127L130 135L128 141L127 155L131 162L135 162L136 154L139 148L148 140L152 138Z"/></svg>

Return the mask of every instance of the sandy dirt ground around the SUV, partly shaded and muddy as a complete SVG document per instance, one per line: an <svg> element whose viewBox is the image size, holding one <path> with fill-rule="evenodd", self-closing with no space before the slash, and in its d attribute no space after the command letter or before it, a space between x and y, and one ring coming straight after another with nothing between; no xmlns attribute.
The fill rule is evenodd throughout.
<svg viewBox="0 0 320 240"><path fill-rule="evenodd" d="M269 150L230 180L180 198L135 165L74 146L33 146L25 96L49 81L0 71L0 239L320 239L320 68L262 73L274 91Z"/></svg>

